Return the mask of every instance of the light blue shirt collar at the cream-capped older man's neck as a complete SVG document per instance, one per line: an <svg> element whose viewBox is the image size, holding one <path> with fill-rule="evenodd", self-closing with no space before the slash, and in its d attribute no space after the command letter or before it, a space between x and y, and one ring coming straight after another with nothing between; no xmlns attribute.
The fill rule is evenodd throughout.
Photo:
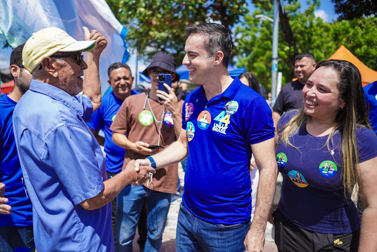
<svg viewBox="0 0 377 252"><path fill-rule="evenodd" d="M60 88L32 79L30 82L30 90L44 95L48 95L54 100L63 103L81 117L84 115L83 105L78 102L77 98L75 98L74 96L70 96Z"/></svg>

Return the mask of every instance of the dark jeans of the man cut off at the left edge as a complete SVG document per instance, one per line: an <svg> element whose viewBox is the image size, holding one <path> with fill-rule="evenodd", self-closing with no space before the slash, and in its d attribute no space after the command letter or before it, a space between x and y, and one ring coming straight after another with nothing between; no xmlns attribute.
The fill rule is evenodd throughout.
<svg viewBox="0 0 377 252"><path fill-rule="evenodd" d="M33 226L0 227L0 251L13 252L16 248L31 246L34 246Z"/></svg>

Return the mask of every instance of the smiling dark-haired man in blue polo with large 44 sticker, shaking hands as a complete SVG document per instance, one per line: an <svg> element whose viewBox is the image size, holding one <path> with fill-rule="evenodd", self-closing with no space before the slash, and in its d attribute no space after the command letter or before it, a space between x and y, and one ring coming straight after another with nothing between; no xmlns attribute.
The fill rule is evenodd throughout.
<svg viewBox="0 0 377 252"><path fill-rule="evenodd" d="M188 26L186 34L182 63L189 80L202 86L185 99L179 139L136 160L135 169L159 169L188 157L177 251L262 251L277 175L271 109L261 95L228 74L227 28L202 23ZM200 121L204 114L207 123ZM252 153L260 175L250 224Z"/></svg>

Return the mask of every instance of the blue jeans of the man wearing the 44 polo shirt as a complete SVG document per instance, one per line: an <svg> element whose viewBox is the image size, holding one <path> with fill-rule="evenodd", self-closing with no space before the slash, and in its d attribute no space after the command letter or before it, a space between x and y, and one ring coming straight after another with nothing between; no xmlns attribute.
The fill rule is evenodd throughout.
<svg viewBox="0 0 377 252"><path fill-rule="evenodd" d="M176 251L243 252L250 221L225 226L212 224L195 217L181 203L179 207Z"/></svg>

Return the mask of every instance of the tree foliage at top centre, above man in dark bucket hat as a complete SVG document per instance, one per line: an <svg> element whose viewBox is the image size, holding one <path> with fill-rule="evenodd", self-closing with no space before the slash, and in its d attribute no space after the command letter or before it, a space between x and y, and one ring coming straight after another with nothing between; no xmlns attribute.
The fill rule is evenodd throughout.
<svg viewBox="0 0 377 252"><path fill-rule="evenodd" d="M245 0L106 0L116 18L128 29L127 43L140 56L169 52L177 64L184 57L187 25L221 22L231 27L247 13Z"/></svg>

